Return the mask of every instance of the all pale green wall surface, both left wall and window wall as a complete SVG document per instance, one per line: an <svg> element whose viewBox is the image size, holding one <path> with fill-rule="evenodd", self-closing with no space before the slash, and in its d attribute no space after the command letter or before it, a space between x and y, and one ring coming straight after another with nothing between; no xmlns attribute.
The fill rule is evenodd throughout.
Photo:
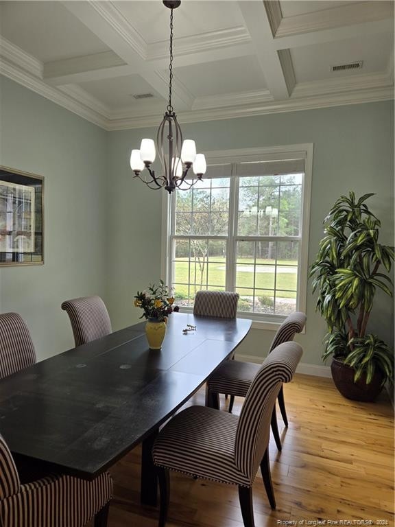
<svg viewBox="0 0 395 527"><path fill-rule="evenodd" d="M133 179L130 149L156 129L105 132L0 77L0 164L45 176L45 264L0 269L0 312L16 311L38 358L73 345L65 298L99 294L114 329L138 320L133 296L160 278L163 191ZM394 106L358 104L182 125L200 151L314 143L309 260L340 194L374 191L371 207L394 243ZM158 115L158 121L160 115ZM372 331L393 342L394 307L378 295ZM307 298L303 362L321 365L325 325ZM254 329L240 352L265 355L272 331Z"/></svg>

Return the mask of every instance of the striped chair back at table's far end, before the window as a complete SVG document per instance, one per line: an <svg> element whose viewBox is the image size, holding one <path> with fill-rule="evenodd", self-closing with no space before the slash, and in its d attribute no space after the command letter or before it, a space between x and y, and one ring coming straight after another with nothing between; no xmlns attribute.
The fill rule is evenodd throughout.
<svg viewBox="0 0 395 527"><path fill-rule="evenodd" d="M193 314L236 318L239 293L232 291L197 291Z"/></svg>

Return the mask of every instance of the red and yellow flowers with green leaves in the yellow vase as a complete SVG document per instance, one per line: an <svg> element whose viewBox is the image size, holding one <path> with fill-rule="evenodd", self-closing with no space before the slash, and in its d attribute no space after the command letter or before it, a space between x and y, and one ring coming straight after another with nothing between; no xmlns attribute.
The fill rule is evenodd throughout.
<svg viewBox="0 0 395 527"><path fill-rule="evenodd" d="M137 291L134 295L134 305L143 309L140 318L153 318L158 322L166 322L172 312L178 312L180 308L175 305L174 297L169 295L165 282L160 279L159 285L149 284L148 292Z"/></svg>

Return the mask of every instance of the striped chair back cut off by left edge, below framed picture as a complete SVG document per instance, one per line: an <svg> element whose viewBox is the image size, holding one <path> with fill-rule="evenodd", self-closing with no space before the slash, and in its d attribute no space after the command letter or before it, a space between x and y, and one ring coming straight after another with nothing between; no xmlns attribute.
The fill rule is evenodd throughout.
<svg viewBox="0 0 395 527"><path fill-rule="evenodd" d="M0 378L36 364L29 329L21 315L0 314Z"/></svg>

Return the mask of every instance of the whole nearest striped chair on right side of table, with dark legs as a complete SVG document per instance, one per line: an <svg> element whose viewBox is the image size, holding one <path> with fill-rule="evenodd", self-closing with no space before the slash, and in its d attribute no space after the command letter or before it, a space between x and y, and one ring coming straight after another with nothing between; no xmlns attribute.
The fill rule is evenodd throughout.
<svg viewBox="0 0 395 527"><path fill-rule="evenodd" d="M292 379L301 356L296 342L274 349L256 373L240 417L190 406L159 432L152 449L160 484L159 527L167 519L169 470L238 485L244 526L254 527L252 483L261 467L270 506L276 508L267 448L270 419L278 391Z"/></svg>

